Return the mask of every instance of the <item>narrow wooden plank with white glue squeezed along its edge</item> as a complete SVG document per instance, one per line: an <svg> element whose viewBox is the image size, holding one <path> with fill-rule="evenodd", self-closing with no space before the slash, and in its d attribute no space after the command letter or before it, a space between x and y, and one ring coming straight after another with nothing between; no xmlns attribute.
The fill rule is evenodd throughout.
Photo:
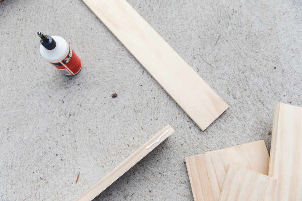
<svg viewBox="0 0 302 201"><path fill-rule="evenodd" d="M159 133L157 133L154 137L147 141L143 146L141 146L133 154L131 154L127 159L120 163L120 165L118 165L105 177L98 181L93 187L82 194L82 196L80 196L77 200L91 201L92 199L94 199L120 176L122 176L125 172L132 168L133 165L135 165L149 152L151 152L156 146L162 143L162 141L169 137L173 132L173 128L170 125L167 125L161 131L159 131Z"/></svg>

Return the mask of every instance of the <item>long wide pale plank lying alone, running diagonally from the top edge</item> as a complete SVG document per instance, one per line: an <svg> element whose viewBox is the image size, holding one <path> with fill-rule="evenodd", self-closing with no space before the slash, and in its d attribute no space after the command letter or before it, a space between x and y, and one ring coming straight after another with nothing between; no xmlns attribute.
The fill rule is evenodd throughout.
<svg viewBox="0 0 302 201"><path fill-rule="evenodd" d="M204 130L228 105L125 0L82 0Z"/></svg>

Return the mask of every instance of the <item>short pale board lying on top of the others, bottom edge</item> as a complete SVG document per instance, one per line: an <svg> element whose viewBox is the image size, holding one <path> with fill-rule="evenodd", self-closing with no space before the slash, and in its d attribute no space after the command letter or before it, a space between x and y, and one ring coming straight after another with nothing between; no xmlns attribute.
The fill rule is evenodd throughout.
<svg viewBox="0 0 302 201"><path fill-rule="evenodd" d="M274 201L277 182L273 177L230 164L219 200Z"/></svg>

